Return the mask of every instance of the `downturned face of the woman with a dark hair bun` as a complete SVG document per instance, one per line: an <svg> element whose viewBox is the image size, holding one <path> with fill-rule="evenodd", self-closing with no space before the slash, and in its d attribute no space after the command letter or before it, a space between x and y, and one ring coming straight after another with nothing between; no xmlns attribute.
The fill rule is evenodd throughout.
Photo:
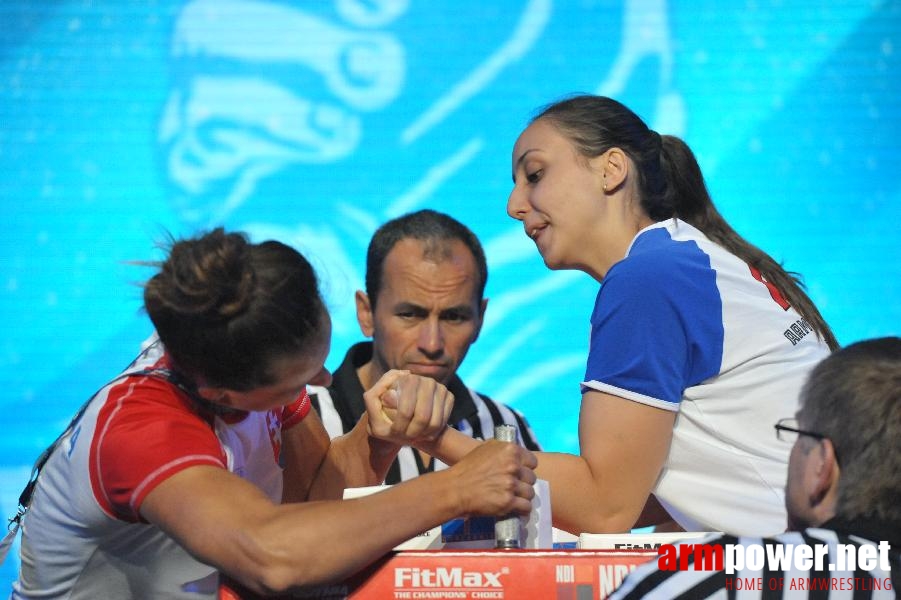
<svg viewBox="0 0 901 600"><path fill-rule="evenodd" d="M326 316L322 332L303 352L276 359L271 366L275 376L271 384L248 391L227 389L217 401L239 410L266 411L291 404L307 385L329 385L332 376L324 365L331 336L331 319Z"/></svg>

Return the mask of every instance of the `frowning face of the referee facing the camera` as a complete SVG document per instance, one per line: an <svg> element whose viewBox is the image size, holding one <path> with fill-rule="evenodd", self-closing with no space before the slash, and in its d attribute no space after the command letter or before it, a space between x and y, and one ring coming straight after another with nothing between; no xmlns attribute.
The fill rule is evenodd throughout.
<svg viewBox="0 0 901 600"><path fill-rule="evenodd" d="M382 265L375 310L357 294L360 329L373 339L372 377L406 369L447 383L482 327L487 300L478 297L475 258L460 241L425 244L404 239Z"/></svg>

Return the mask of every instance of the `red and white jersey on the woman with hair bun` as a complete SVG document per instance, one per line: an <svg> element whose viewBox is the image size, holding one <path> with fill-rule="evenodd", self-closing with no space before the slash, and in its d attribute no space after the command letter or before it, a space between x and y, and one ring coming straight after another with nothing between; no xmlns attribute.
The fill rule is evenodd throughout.
<svg viewBox="0 0 901 600"><path fill-rule="evenodd" d="M89 402L38 477L22 523L19 598L215 598L215 569L141 517L159 483L196 465L227 469L280 502L283 415L209 413L176 383L151 343ZM185 499L190 502L190 498Z"/></svg>

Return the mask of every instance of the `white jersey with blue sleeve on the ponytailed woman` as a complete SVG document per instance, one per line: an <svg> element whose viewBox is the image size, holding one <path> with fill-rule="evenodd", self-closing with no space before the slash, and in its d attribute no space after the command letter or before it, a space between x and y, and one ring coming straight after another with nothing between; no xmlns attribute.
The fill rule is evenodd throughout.
<svg viewBox="0 0 901 600"><path fill-rule="evenodd" d="M685 529L771 535L791 451L773 424L828 353L759 273L670 219L604 278L582 385L678 411L654 494Z"/></svg>

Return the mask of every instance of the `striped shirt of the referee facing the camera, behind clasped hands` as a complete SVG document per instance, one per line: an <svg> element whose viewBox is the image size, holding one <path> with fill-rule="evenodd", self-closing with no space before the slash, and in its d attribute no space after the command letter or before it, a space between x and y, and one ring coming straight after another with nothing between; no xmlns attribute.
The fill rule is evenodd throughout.
<svg viewBox="0 0 901 600"><path fill-rule="evenodd" d="M357 377L357 369L372 358L372 342L354 344L341 366L332 374L332 384L327 387L309 386L313 407L319 413L323 425L331 437L337 437L350 429L366 412L363 403L363 386ZM464 385L456 375L447 383L454 395L454 408L448 424L466 435L486 439L494 436L496 425L513 425L517 441L529 450L540 450L535 435L525 417L517 410L495 402ZM395 484L423 473L446 468L438 460L423 464L419 452L413 448L401 448L397 459L388 470L385 483Z"/></svg>

